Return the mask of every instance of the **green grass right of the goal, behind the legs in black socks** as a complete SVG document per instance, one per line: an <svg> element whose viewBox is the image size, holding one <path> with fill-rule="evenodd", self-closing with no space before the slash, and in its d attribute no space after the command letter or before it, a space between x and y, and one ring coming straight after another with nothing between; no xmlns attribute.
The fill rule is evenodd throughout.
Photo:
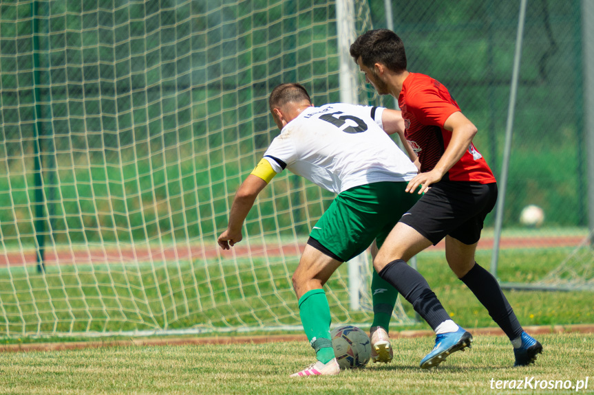
<svg viewBox="0 0 594 395"><path fill-rule="evenodd" d="M506 249L500 253L498 278L502 282L538 280L564 260L572 249ZM476 260L489 268L491 251L478 251ZM449 270L443 252L418 259L418 270L427 278L450 315L468 328L494 326L476 297ZM594 322L591 292L511 291L505 295L522 325L584 324ZM405 303L405 308L408 304Z"/></svg>

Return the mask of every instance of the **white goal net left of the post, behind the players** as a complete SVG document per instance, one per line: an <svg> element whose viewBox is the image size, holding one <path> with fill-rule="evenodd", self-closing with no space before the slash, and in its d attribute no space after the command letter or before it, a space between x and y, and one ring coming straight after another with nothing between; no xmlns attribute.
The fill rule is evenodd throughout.
<svg viewBox="0 0 594 395"><path fill-rule="evenodd" d="M282 174L239 245L216 237L278 133L271 89L339 101L334 1L19 1L0 28L0 335L300 328L290 277L332 196ZM361 259L362 309L346 265L326 287L335 324L371 321Z"/></svg>

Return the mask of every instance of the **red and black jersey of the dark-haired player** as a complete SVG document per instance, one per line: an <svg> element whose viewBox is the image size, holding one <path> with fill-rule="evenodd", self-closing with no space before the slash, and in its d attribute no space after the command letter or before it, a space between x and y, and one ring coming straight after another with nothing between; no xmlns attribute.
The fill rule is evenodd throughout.
<svg viewBox="0 0 594 395"><path fill-rule="evenodd" d="M452 139L443 124L460 107L440 82L429 76L410 73L404 80L398 98L405 123L404 135L412 146L421 172L433 170ZM493 172L474 144L447 172L451 181L496 182Z"/></svg>

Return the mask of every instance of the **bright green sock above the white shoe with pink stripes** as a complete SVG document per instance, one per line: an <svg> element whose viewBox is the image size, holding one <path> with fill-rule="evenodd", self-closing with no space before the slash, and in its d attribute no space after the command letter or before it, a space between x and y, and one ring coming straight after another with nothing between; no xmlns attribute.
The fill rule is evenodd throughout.
<svg viewBox="0 0 594 395"><path fill-rule="evenodd" d="M323 289L312 289L299 299L299 315L307 338L321 363L334 358L330 337L330 306Z"/></svg>

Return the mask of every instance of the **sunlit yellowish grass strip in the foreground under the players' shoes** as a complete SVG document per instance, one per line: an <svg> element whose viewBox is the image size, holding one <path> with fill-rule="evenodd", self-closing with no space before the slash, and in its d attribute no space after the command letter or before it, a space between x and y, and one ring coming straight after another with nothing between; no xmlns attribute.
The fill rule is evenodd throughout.
<svg viewBox="0 0 594 395"><path fill-rule="evenodd" d="M118 347L2 354L0 394L512 394L491 379L577 380L594 387L594 335L540 335L544 353L527 368L511 368L504 337L476 337L432 371L418 361L430 337L394 339L394 361L338 376L290 379L312 362L306 342L227 346ZM522 391L520 391L522 392ZM529 390L531 394L575 390Z"/></svg>

